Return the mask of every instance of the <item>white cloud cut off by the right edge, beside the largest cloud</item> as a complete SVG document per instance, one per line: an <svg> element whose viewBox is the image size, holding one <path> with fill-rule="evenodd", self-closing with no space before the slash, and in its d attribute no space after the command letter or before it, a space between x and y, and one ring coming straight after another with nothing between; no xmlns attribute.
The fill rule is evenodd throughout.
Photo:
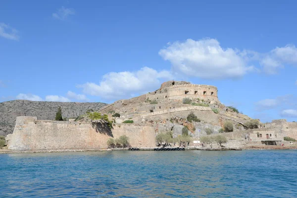
<svg viewBox="0 0 297 198"><path fill-rule="evenodd" d="M260 65L267 74L277 73L284 64L297 66L297 48L294 45L272 49L260 59Z"/></svg>

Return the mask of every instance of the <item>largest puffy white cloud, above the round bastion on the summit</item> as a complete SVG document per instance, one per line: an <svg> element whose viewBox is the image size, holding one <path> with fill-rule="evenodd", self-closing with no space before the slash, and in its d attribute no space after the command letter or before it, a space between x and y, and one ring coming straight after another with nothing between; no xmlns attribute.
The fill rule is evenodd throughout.
<svg viewBox="0 0 297 198"><path fill-rule="evenodd" d="M238 78L253 67L247 66L247 51L223 49L215 39L169 44L159 54L172 64L173 70L204 79Z"/></svg>

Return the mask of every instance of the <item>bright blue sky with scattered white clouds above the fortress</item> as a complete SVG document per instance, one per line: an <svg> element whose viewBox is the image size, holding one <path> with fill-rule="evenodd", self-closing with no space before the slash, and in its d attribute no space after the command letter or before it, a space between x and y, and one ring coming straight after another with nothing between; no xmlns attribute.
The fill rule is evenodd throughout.
<svg viewBox="0 0 297 198"><path fill-rule="evenodd" d="M0 101L110 103L166 80L297 121L297 2L2 0Z"/></svg>

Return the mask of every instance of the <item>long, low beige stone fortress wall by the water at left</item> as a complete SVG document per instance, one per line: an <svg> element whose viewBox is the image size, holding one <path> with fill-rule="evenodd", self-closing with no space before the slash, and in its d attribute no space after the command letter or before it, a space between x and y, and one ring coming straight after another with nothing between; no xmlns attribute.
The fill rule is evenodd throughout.
<svg viewBox="0 0 297 198"><path fill-rule="evenodd" d="M132 147L139 147L139 141L142 147L155 146L155 133L151 125L115 125L110 132L101 123L36 120L36 117L17 117L8 149L106 148L109 138L118 138L123 134L130 138Z"/></svg>

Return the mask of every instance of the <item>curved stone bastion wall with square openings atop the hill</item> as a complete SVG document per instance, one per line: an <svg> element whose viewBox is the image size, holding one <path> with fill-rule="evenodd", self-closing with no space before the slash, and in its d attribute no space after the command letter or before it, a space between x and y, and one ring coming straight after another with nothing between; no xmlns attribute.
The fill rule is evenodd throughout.
<svg viewBox="0 0 297 198"><path fill-rule="evenodd" d="M186 93L187 92L187 93ZM205 93L204 93L205 92ZM167 91L168 99L199 98L219 102L217 88L214 86L178 85Z"/></svg>

